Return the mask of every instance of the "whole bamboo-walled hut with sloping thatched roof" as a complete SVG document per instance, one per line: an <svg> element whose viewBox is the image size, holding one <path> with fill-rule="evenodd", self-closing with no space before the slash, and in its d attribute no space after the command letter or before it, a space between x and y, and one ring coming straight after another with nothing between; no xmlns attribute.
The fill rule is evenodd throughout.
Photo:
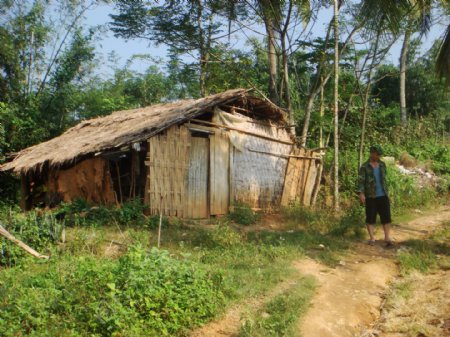
<svg viewBox="0 0 450 337"><path fill-rule="evenodd" d="M288 129L282 109L236 89L82 121L0 170L20 175L24 209L142 198L152 214L204 218L309 204L320 157Z"/></svg>

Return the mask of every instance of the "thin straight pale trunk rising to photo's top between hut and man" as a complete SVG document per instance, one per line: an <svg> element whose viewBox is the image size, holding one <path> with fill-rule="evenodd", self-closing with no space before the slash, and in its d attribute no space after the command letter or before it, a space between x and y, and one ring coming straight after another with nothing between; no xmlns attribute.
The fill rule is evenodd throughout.
<svg viewBox="0 0 450 337"><path fill-rule="evenodd" d="M334 0L334 188L333 206L339 211L339 4Z"/></svg>

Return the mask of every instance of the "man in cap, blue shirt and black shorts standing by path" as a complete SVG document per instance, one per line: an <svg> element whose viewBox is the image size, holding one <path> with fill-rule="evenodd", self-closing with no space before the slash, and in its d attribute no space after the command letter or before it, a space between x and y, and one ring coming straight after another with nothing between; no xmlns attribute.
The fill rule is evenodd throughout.
<svg viewBox="0 0 450 337"><path fill-rule="evenodd" d="M366 206L366 224L369 244L375 243L373 235L377 214L384 230L386 247L392 247L390 237L391 206L386 187L386 164L380 160L383 151L379 145L370 147L370 157L359 169L359 198Z"/></svg>

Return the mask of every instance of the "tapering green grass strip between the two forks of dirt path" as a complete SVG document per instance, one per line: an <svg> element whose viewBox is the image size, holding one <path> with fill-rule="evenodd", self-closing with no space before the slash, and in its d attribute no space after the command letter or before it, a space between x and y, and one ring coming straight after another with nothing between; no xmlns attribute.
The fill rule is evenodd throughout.
<svg viewBox="0 0 450 337"><path fill-rule="evenodd" d="M247 317L241 327L241 337L297 336L296 323L307 311L314 294L315 280L299 277L263 308Z"/></svg>

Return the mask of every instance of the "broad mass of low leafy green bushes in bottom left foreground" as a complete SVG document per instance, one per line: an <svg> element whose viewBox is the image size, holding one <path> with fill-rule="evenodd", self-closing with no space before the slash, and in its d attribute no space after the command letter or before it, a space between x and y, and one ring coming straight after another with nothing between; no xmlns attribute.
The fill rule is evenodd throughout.
<svg viewBox="0 0 450 337"><path fill-rule="evenodd" d="M2 336L178 336L224 301L220 275L157 249L34 268L3 272Z"/></svg>

